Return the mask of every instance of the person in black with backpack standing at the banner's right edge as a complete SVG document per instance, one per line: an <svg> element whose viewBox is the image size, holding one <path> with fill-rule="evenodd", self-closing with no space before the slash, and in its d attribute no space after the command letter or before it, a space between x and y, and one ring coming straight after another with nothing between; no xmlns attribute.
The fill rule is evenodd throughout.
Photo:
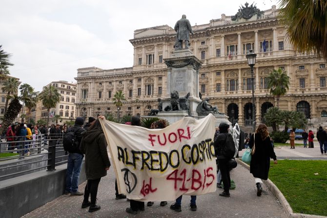
<svg viewBox="0 0 327 218"><path fill-rule="evenodd" d="M232 135L228 133L229 125L225 122L219 124L217 139L214 141L215 154L218 159L219 171L224 183L224 191L219 194L222 197L230 197L230 175L228 161L235 156L235 143Z"/></svg>

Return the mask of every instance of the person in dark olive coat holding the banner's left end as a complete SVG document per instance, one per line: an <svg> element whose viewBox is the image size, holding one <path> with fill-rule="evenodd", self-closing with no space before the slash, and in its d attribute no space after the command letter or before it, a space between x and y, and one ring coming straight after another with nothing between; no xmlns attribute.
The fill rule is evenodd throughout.
<svg viewBox="0 0 327 218"><path fill-rule="evenodd" d="M84 191L82 208L90 207L88 212L100 210L96 205L100 179L107 175L110 161L107 152L107 143L104 138L100 121L97 120L84 134L80 149L85 154L85 174L87 184ZM88 200L91 195L91 202Z"/></svg>

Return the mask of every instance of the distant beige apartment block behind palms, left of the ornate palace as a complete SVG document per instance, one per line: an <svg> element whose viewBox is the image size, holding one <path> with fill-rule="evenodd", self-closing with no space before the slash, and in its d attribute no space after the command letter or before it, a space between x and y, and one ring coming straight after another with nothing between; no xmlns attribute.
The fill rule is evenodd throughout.
<svg viewBox="0 0 327 218"><path fill-rule="evenodd" d="M48 86L55 86L58 92L61 94L60 102L57 103L55 108L50 109L50 122L51 124L56 124L57 121L59 124L64 124L65 121L75 120L76 117L76 84L69 83L67 81L54 81L47 84ZM56 120L55 115L60 115L61 119ZM42 101L40 100L36 106L35 119L38 121L39 119L47 120L48 112L47 109L42 105Z"/></svg>

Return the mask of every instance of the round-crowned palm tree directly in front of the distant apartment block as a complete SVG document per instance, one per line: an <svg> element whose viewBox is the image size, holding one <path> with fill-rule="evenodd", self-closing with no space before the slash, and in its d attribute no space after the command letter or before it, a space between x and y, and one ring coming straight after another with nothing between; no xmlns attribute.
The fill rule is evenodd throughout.
<svg viewBox="0 0 327 218"><path fill-rule="evenodd" d="M42 104L48 112L47 125L49 125L50 109L57 105L57 103L60 101L60 97L61 94L52 85L44 87L43 91L40 93L40 99L42 100Z"/></svg>

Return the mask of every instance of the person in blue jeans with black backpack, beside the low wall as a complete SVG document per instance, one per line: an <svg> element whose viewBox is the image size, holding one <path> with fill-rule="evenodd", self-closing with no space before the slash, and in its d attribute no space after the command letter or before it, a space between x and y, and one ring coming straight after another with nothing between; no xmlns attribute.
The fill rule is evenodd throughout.
<svg viewBox="0 0 327 218"><path fill-rule="evenodd" d="M78 183L83 161L83 153L80 150L82 141L82 133L85 130L82 128L84 119L76 118L75 125L68 129L68 133L62 139L63 148L68 152L67 172L66 172L66 188L65 195L80 196L84 193L78 191Z"/></svg>

